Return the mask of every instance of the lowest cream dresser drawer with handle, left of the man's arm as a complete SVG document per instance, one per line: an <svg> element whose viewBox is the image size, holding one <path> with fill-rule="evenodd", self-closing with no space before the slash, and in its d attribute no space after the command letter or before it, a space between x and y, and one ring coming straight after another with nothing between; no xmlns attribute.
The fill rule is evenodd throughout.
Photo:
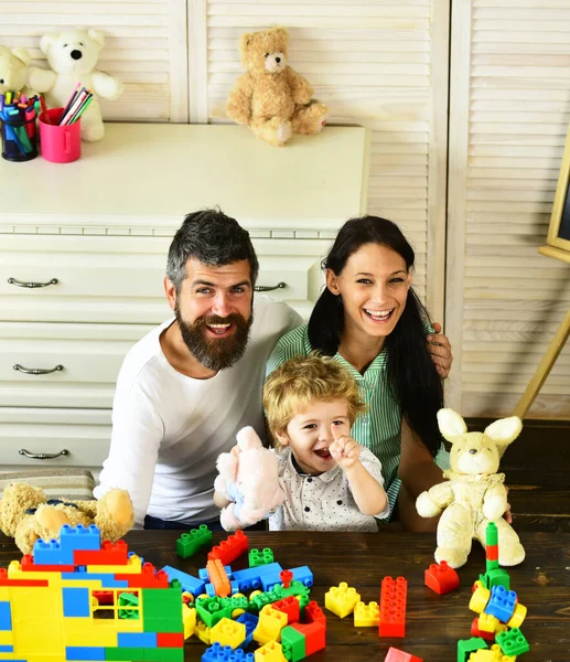
<svg viewBox="0 0 570 662"><path fill-rule="evenodd" d="M0 407L1 463L100 467L109 451L110 415L110 410ZM20 451L56 457L40 459Z"/></svg>

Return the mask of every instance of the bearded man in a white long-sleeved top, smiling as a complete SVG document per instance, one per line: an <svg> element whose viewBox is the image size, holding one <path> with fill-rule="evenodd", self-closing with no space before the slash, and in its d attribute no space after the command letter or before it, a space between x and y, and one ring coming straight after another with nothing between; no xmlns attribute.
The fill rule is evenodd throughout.
<svg viewBox="0 0 570 662"><path fill-rule="evenodd" d="M258 270L248 233L221 211L189 214L172 241L164 290L175 317L125 357L94 491L128 490L136 527L219 528L216 458L246 425L265 437L265 365L301 318L278 301L254 306Z"/></svg>

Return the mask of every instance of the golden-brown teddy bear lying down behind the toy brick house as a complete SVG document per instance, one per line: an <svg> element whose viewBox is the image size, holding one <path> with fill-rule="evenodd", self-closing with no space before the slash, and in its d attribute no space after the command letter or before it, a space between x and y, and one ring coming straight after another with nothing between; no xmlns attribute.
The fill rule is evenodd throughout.
<svg viewBox="0 0 570 662"><path fill-rule="evenodd" d="M58 540L64 524L96 524L101 541L115 542L133 525L132 502L125 490L109 490L99 501L47 501L41 488L10 483L0 499L0 531L14 538L23 554L32 554L36 540Z"/></svg>

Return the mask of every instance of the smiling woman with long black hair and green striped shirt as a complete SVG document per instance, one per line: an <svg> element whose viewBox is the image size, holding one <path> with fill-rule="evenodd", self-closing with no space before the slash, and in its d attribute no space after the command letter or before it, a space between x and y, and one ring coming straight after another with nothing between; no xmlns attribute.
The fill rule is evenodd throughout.
<svg viewBox="0 0 570 662"><path fill-rule="evenodd" d="M413 263L413 249L390 221L345 223L323 260L326 287L309 324L281 338L267 365L269 374L316 350L348 369L368 406L352 435L380 460L390 509L399 498L409 527L422 526L411 500L441 482L449 466L435 419L443 406L435 362L440 351L451 355L449 345L427 343L430 321L411 286Z"/></svg>

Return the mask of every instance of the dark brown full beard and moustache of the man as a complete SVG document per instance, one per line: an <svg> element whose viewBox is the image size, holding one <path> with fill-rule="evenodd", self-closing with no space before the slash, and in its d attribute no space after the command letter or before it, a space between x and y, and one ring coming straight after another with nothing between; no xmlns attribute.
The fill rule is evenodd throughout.
<svg viewBox="0 0 570 662"><path fill-rule="evenodd" d="M254 321L254 312L245 320L238 313L228 314L226 318L218 316L201 317L193 324L187 324L180 314L176 305L174 309L179 329L184 344L191 354L208 370L224 370L230 367L241 359L249 339L249 329ZM224 324L230 322L234 327L228 338L212 338L206 327L208 324Z"/></svg>

